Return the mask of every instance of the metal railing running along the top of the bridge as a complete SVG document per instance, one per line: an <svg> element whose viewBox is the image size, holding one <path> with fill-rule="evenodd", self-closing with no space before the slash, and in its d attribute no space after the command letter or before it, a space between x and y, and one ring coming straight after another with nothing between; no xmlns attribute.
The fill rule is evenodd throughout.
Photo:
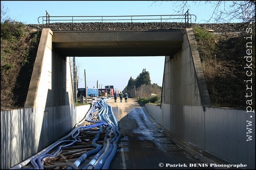
<svg viewBox="0 0 256 170"><path fill-rule="evenodd" d="M117 16L51 16L46 11L46 16L37 19L42 28L49 28L53 23L184 23L191 25L192 17L196 15L189 14L188 10L183 15L117 15Z"/></svg>

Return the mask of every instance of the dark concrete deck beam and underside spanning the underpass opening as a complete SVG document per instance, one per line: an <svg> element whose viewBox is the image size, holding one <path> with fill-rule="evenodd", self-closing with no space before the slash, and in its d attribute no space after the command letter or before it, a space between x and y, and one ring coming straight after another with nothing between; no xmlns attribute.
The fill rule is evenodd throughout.
<svg viewBox="0 0 256 170"><path fill-rule="evenodd" d="M53 48L66 56L173 56L182 31L54 31Z"/></svg>

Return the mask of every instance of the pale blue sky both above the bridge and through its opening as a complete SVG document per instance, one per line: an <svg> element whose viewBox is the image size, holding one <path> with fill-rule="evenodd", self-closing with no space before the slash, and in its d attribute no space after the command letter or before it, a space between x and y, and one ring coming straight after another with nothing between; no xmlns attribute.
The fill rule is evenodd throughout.
<svg viewBox="0 0 256 170"><path fill-rule="evenodd" d="M192 23L206 23L214 7L210 4L193 5L188 1ZM172 15L177 13L176 1L1 1L6 16L24 24L39 24L38 18L52 16L106 16L106 15ZM192 4L191 4L192 3ZM2 8L1 8L2 9ZM184 14L181 12L179 14ZM123 91L130 77L136 79L143 69L149 72L151 84L162 86L164 56L145 57L75 57L78 66L78 88L85 88L84 70L88 88L114 85Z"/></svg>

